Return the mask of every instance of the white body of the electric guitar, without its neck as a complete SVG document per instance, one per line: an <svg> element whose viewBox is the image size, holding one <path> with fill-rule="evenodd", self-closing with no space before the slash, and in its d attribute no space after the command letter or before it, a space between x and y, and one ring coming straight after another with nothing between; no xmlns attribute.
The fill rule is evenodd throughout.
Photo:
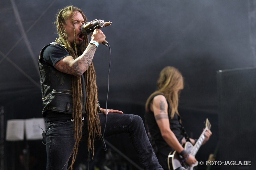
<svg viewBox="0 0 256 170"><path fill-rule="evenodd" d="M191 149L193 148L193 144L190 142L186 142L183 145L184 149L190 153ZM176 151L171 151L167 158L168 168L169 170L174 170L180 166L186 168L187 170L193 170L194 166L198 165L198 162L192 166L189 166L186 162L182 162L183 157L180 156Z"/></svg>

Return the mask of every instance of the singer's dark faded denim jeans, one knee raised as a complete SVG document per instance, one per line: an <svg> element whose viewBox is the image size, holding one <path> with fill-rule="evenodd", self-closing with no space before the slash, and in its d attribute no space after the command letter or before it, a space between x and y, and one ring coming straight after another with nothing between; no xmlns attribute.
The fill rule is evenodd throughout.
<svg viewBox="0 0 256 170"><path fill-rule="evenodd" d="M142 118L138 115L109 113L107 119L99 113L101 130L106 128L104 137L128 133L132 145L144 169L162 169L148 140ZM82 140L88 139L87 119L83 120ZM67 169L68 159L74 146L71 120L46 122L47 170ZM95 148L97 150L97 148Z"/></svg>

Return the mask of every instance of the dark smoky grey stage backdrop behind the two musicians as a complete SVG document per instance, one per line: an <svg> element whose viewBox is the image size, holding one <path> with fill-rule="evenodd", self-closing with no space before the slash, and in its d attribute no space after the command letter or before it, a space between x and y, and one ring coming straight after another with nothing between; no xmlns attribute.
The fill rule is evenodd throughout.
<svg viewBox="0 0 256 170"><path fill-rule="evenodd" d="M56 39L55 15L67 5L81 8L88 21L113 22L102 29L112 55L108 108L143 118L144 103L156 89L161 69L169 65L182 72L185 88L179 112L187 131L197 138L205 118L212 124L213 135L197 155L197 160L206 161L218 149L219 141L216 71L256 66L256 0L0 1L0 106L4 107L4 128L9 119L41 117L38 55L42 47ZM109 48L100 44L93 63L103 108L109 61ZM138 163L127 136L109 141ZM23 155L24 143L4 144L5 168L15 169L15 162L21 164L19 155ZM98 146L101 148L100 143ZM31 141L30 148L40 151L31 153L40 160L37 169L45 169L45 146ZM77 162L86 164L87 152L79 153L83 156ZM99 157L105 159L105 154Z"/></svg>

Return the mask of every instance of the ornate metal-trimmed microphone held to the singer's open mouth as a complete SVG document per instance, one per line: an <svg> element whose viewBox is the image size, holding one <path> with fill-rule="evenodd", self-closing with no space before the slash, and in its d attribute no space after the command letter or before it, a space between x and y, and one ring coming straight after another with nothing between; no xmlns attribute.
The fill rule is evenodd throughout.
<svg viewBox="0 0 256 170"><path fill-rule="evenodd" d="M91 34L96 28L100 29L106 26L111 25L112 22L104 22L104 20L100 20L100 19L95 19L91 22L86 22L83 25L81 25L81 32L84 35L89 35ZM108 46L108 41L104 40L102 42L102 44L104 44L105 46Z"/></svg>

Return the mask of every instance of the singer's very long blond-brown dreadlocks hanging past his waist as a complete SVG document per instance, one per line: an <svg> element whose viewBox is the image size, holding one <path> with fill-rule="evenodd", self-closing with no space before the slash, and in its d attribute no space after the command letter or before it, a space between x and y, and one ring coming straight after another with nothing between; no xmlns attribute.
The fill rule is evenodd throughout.
<svg viewBox="0 0 256 170"><path fill-rule="evenodd" d="M63 9L61 9L58 13L57 20L55 21L57 31L59 34L60 40L64 43L65 47L67 48L69 54L73 57L73 59L76 59L78 57L78 54L82 54L86 47L89 44L88 35L84 36L82 46L80 49L77 49L76 41L74 41L74 50L70 46L70 42L68 41L68 38L65 36L67 35L65 28L63 28L63 24L66 25L67 19L71 18L73 23L73 12L78 11L82 14L84 21L87 22L87 18L83 14L82 10L80 10L77 7L73 6L67 6ZM74 27L74 25L73 25ZM76 35L76 30L74 27L74 36ZM79 50L79 51L78 51ZM95 70L93 63L90 64L89 68L84 72L85 76L85 85L86 85L86 114L87 114L87 121L88 121L88 131L89 131L89 137L88 137L88 151L92 150L92 153L94 155L94 139L96 136L100 137L100 131L101 127L98 122L99 115L98 115L98 107L97 107L97 85L96 85L96 76L95 76ZM72 156L72 162L71 165L68 167L68 169L73 169L72 165L74 164L74 161L76 160L76 156L78 153L78 145L79 141L81 140L82 135L82 84L81 84L81 77L80 76L73 76L72 77L72 90L73 90L73 111L72 116L74 119L73 122L73 132L74 132L74 138L75 138L75 144L73 147L73 151L70 155Z"/></svg>

